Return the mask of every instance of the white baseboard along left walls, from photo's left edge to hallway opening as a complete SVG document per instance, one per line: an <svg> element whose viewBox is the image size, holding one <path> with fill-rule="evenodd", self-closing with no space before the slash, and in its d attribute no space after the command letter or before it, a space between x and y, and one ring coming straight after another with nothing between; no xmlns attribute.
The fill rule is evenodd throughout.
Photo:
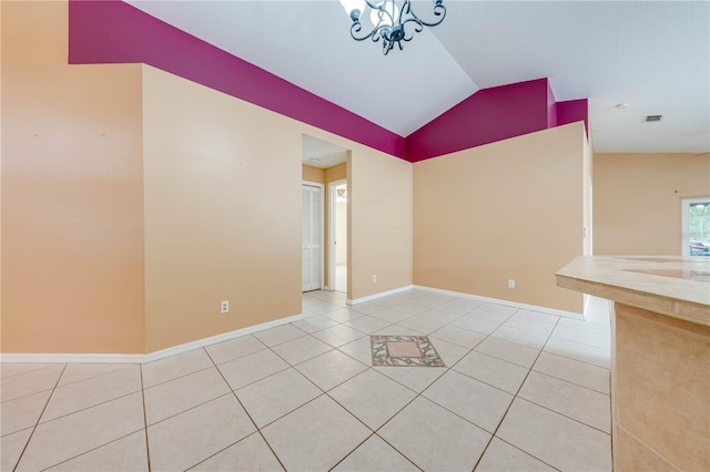
<svg viewBox="0 0 710 472"><path fill-rule="evenodd" d="M215 345L217 342L239 338L240 336L251 335L253 332L263 331L264 329L275 328L281 325L298 321L303 319L303 315L294 315L287 318L275 319L273 321L263 322L247 328L236 329L234 331L223 332L221 335L211 336L209 338L197 339L195 341L185 342L183 345L173 346L168 349L150 352L146 355L111 355L111 353L2 353L1 362L82 362L82 363L146 363L154 360L163 359L178 353L186 352L193 349L203 348L205 346Z"/></svg>

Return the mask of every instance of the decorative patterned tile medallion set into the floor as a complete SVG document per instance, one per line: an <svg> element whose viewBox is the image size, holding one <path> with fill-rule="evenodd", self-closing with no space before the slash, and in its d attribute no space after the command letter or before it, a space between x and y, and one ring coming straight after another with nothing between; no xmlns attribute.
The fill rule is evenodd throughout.
<svg viewBox="0 0 710 472"><path fill-rule="evenodd" d="M426 336L371 336L375 367L445 367Z"/></svg>

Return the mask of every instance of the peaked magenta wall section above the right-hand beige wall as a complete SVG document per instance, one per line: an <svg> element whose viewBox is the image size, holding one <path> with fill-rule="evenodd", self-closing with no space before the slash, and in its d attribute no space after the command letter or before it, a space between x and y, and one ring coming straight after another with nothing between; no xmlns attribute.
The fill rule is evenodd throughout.
<svg viewBox="0 0 710 472"><path fill-rule="evenodd" d="M407 136L409 162L548 127L547 79L483 89Z"/></svg>

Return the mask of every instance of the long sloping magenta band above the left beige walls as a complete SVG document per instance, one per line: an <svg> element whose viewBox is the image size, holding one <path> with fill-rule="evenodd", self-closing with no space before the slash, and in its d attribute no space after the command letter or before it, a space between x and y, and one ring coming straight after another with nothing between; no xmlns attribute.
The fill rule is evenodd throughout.
<svg viewBox="0 0 710 472"><path fill-rule="evenodd" d="M405 157L404 137L128 3L69 1L69 63L135 62Z"/></svg>

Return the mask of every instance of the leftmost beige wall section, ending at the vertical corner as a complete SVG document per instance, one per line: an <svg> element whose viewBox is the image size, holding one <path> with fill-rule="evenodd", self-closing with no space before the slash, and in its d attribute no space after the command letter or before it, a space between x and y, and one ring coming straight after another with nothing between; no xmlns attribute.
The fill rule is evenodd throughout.
<svg viewBox="0 0 710 472"><path fill-rule="evenodd" d="M143 351L141 68L67 65L65 2L1 2L2 351Z"/></svg>

